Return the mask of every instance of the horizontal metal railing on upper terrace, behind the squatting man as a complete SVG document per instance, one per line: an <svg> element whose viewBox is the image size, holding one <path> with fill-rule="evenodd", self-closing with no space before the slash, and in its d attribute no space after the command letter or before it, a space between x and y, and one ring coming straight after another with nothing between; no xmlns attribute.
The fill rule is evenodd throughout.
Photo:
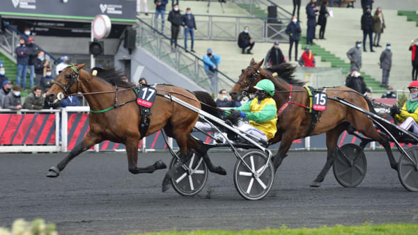
<svg viewBox="0 0 418 235"><path fill-rule="evenodd" d="M161 18L157 19L155 26L155 13L148 13L151 17L141 17L155 29L161 29ZM142 15L142 14L141 14ZM167 17L168 14L166 14ZM249 26L251 38L256 42L288 42L285 33L286 26L291 18L263 18L238 17L225 15L194 15L198 33L195 40L226 40L236 41L245 26ZM171 35L171 24L165 19L164 35ZM184 38L184 31L180 30L178 38Z"/></svg>

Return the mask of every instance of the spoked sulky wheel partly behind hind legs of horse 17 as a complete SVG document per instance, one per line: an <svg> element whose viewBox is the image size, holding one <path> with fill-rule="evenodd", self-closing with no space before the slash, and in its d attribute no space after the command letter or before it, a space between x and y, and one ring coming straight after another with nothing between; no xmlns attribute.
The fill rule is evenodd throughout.
<svg viewBox="0 0 418 235"><path fill-rule="evenodd" d="M173 167L178 159L174 156L170 163ZM208 180L208 168L203 158L193 152L192 157L182 167L174 172L171 185L174 190L183 196L193 196L199 193Z"/></svg>

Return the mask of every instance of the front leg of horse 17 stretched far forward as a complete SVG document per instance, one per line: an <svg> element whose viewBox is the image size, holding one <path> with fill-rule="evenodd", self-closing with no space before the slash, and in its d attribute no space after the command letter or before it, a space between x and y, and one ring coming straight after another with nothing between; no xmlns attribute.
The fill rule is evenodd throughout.
<svg viewBox="0 0 418 235"><path fill-rule="evenodd" d="M102 137L92 131L88 131L86 138L82 140L78 145L74 147L74 149L71 150L71 152L65 156L65 158L58 163L58 165L53 166L52 168L49 168L49 172L47 177L58 177L59 173L64 170L65 166L76 156L81 154L82 152L86 151L87 149L90 149L93 147L93 145L98 144L102 142Z"/></svg>

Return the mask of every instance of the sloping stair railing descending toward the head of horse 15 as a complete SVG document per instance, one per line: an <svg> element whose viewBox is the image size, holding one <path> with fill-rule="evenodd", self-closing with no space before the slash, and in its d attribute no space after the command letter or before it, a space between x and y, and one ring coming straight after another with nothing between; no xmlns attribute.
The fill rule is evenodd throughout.
<svg viewBox="0 0 418 235"><path fill-rule="evenodd" d="M139 24L137 24L135 29L137 30L138 47L150 51L151 54L171 65L178 72L192 79L200 86L211 88L210 90L214 94L217 94L217 90L231 88L235 83L233 79L219 70L216 72L206 70L201 58L175 42L171 45L170 38L154 29L142 19L139 19ZM215 81L214 84L211 83L211 79Z"/></svg>

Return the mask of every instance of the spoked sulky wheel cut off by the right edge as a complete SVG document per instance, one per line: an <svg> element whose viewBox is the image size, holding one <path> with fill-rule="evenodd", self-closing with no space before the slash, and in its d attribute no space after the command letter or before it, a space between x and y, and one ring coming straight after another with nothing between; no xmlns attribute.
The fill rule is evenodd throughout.
<svg viewBox="0 0 418 235"><path fill-rule="evenodd" d="M403 187L408 191L418 192L418 147L409 147L406 153L411 157L415 163L412 163L408 156L402 154L398 161L398 177Z"/></svg>

